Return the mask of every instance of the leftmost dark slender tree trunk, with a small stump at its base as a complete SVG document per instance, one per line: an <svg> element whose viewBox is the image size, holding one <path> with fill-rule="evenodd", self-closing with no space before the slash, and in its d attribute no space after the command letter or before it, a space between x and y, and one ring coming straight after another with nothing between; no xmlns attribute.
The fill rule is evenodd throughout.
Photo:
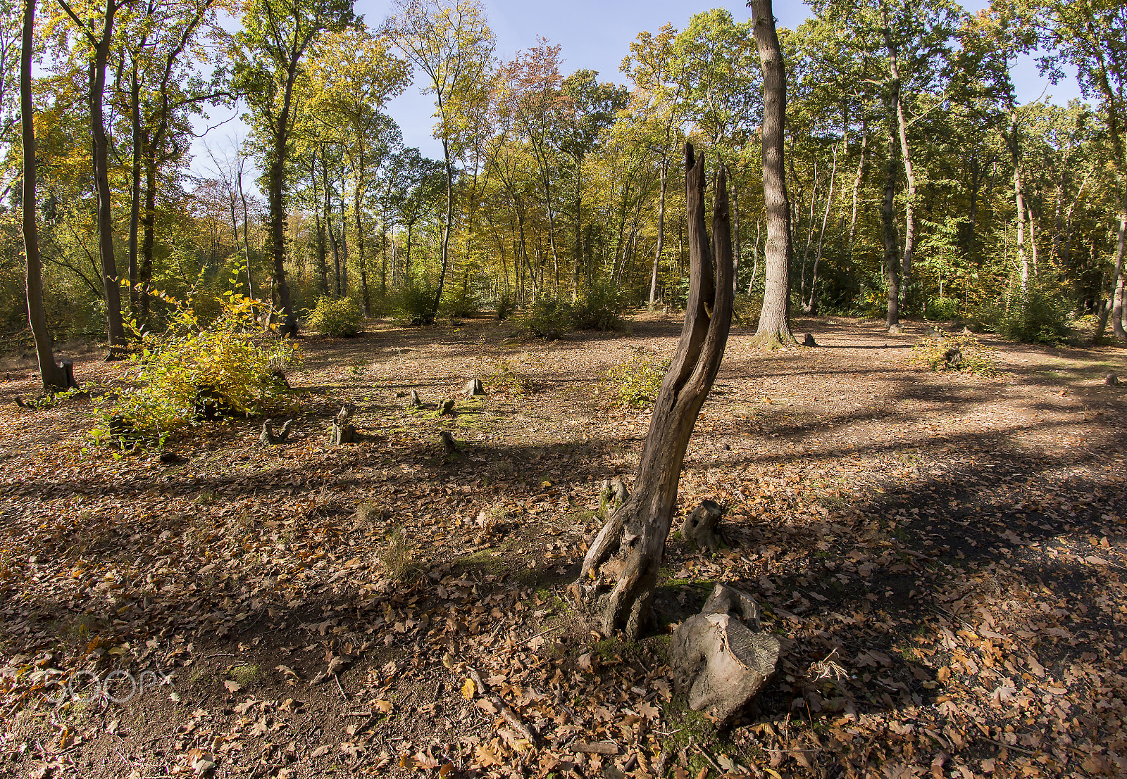
<svg viewBox="0 0 1127 779"><path fill-rule="evenodd" d="M19 52L19 124L24 143L24 258L27 262L27 323L35 339L39 359L39 378L46 392L66 390L66 377L55 365L47 317L43 311L43 263L39 260L39 231L35 222L35 106L32 101L32 54L35 32L35 0L25 0L24 30Z"/></svg>

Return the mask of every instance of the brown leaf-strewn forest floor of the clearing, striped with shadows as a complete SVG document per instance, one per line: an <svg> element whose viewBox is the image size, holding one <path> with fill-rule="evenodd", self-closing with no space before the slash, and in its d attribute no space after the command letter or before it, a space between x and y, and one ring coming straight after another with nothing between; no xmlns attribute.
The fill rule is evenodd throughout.
<svg viewBox="0 0 1127 779"><path fill-rule="evenodd" d="M289 442L211 423L168 464L94 447L91 401L20 411L35 380L9 375L0 774L1127 773L1127 387L1102 382L1127 350L984 337L984 378L914 365L922 323L799 320L819 346L774 352L734 329L677 502L724 504L728 546L671 538L660 632L624 642L565 588L649 422L601 375L680 321L630 328L305 339ZM474 376L489 394L438 418ZM346 400L363 440L330 447ZM783 646L722 731L666 666L717 581Z"/></svg>

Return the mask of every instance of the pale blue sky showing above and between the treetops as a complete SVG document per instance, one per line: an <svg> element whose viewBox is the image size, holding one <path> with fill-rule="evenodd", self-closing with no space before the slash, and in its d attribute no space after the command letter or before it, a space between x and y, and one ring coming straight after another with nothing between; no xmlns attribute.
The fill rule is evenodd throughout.
<svg viewBox="0 0 1127 779"><path fill-rule="evenodd" d="M564 72L570 73L580 68L596 70L604 81L625 82L619 72L622 59L630 51L630 42L641 30L656 32L666 23L682 29L693 14L711 8L727 8L733 18L743 21L751 17L751 9L744 2L707 2L690 0L675 2L673 0L485 0L489 25L497 36L495 55L502 60L511 60L513 55L535 44L536 36L542 36L550 44L559 44L564 59ZM986 2L968 0L964 8L975 11ZM369 26L379 25L388 14L385 0L357 0L356 12L364 16ZM792 0L774 3L777 24L780 27L795 28L810 16L808 6ZM1080 97L1080 89L1074 79L1050 86L1047 78L1037 72L1037 65L1031 56L1018 62L1013 72L1021 102L1036 100L1042 93L1054 102L1067 102ZM427 156L441 159L442 145L434 140L434 96L421 95L421 80L408 87L402 95L392 100L387 108L403 133L403 143L418 146ZM225 119L230 113L213 111L208 124L214 125ZM202 127L197 127L197 132ZM246 132L241 122L234 119L208 133L206 138L197 140L193 145L193 169L206 173L211 167L206 146L212 149L230 149Z"/></svg>

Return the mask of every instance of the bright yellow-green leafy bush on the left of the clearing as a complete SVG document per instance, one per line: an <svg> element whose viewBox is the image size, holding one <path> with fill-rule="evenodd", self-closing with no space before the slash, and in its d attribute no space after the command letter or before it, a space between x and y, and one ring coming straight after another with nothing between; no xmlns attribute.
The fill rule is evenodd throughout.
<svg viewBox="0 0 1127 779"><path fill-rule="evenodd" d="M172 311L168 328L142 333L136 321L128 323L140 341L131 357L139 368L133 374L136 384L122 387L117 400L101 410L103 424L90 432L95 441L112 440L114 417L135 433L158 440L167 431L198 423L202 395L248 415L290 404L290 391L273 373L299 361L300 355L293 341L261 333L258 317L270 313L268 306L228 293L219 301L216 319L203 325L190 303L153 294Z"/></svg>

